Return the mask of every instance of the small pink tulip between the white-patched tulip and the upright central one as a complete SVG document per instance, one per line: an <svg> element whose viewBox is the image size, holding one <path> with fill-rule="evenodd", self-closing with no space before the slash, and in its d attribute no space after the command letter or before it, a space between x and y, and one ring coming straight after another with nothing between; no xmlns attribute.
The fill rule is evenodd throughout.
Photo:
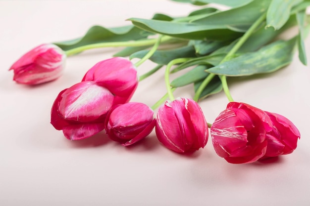
<svg viewBox="0 0 310 206"><path fill-rule="evenodd" d="M154 127L154 111L139 102L129 102L114 107L105 120L106 134L123 146L132 145L145 138Z"/></svg>

